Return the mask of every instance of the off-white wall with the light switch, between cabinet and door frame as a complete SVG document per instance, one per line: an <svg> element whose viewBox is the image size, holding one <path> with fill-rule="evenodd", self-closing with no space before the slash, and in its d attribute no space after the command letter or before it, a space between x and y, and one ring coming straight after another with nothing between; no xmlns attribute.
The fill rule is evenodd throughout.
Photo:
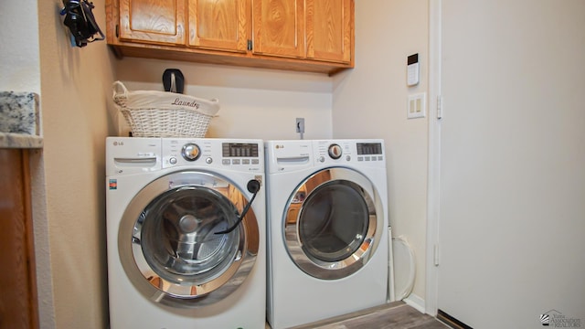
<svg viewBox="0 0 585 329"><path fill-rule="evenodd" d="M335 138L383 138L389 220L416 254L415 300L424 307L428 119L407 120L407 96L428 88L427 0L356 1L356 69L335 76ZM420 84L406 85L406 62L419 53Z"/></svg>

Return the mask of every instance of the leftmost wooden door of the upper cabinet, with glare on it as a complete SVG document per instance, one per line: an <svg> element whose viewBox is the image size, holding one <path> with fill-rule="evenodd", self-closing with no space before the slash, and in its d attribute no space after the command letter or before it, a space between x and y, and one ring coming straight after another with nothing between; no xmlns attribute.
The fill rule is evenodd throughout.
<svg viewBox="0 0 585 329"><path fill-rule="evenodd" d="M120 0L120 39L185 45L186 0Z"/></svg>

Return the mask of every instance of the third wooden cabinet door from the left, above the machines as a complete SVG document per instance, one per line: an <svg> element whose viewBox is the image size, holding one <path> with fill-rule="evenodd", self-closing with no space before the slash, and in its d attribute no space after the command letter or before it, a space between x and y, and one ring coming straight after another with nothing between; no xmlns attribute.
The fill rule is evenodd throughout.
<svg viewBox="0 0 585 329"><path fill-rule="evenodd" d="M305 58L303 0L252 0L252 9L254 53Z"/></svg>

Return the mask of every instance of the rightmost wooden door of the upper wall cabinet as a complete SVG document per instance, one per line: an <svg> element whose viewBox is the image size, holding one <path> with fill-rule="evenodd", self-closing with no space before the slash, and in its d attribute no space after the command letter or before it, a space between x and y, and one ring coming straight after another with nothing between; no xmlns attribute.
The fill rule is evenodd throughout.
<svg viewBox="0 0 585 329"><path fill-rule="evenodd" d="M353 0L306 0L307 58L349 63Z"/></svg>

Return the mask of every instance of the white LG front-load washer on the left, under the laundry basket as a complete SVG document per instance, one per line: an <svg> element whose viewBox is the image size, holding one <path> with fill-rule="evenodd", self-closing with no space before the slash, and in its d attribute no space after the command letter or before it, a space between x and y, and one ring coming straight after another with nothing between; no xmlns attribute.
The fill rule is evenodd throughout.
<svg viewBox="0 0 585 329"><path fill-rule="evenodd" d="M106 143L112 329L263 328L263 143Z"/></svg>

